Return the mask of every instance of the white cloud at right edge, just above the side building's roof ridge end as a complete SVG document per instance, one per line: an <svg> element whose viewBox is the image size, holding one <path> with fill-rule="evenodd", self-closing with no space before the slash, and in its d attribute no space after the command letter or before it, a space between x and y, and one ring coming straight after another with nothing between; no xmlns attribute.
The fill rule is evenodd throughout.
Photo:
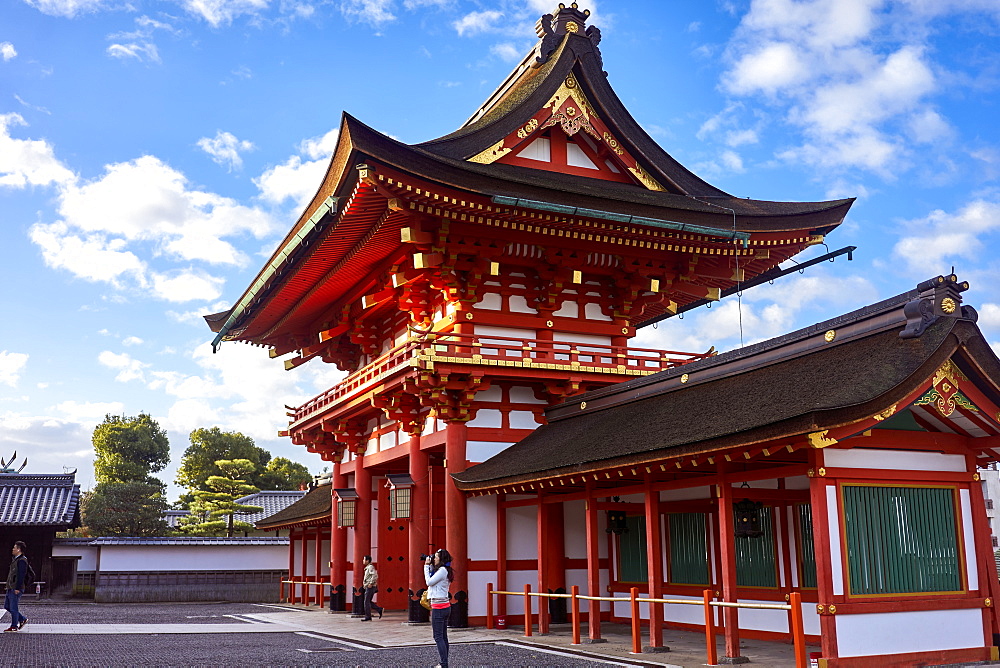
<svg viewBox="0 0 1000 668"><path fill-rule="evenodd" d="M1000 230L1000 202L975 200L955 213L940 209L904 221L906 232L893 248L910 275L946 274L955 258L978 261L986 251L981 237Z"/></svg>

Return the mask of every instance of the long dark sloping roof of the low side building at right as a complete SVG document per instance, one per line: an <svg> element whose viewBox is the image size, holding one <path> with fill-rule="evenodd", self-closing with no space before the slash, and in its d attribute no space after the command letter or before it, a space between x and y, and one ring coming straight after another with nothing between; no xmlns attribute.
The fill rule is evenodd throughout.
<svg viewBox="0 0 1000 668"><path fill-rule="evenodd" d="M454 478L474 490L850 423L915 391L960 347L1000 381L1000 360L971 320L941 318L918 338L899 337L902 306L914 294L574 397L547 411L549 424ZM830 329L833 343L823 337Z"/></svg>

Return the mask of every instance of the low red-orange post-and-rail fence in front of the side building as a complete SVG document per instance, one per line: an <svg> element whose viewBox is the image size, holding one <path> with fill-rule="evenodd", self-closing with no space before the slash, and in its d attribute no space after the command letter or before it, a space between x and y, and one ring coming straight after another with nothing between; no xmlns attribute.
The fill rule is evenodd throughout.
<svg viewBox="0 0 1000 668"><path fill-rule="evenodd" d="M662 605L700 605L705 608L705 655L706 663L710 666L718 665L718 650L715 643L715 620L712 608L753 608L763 610L785 610L788 613L788 632L792 637L792 644L795 652L795 668L806 668L808 666L806 655L805 626L802 622L802 594L792 592L788 595L788 603L740 603L729 601L715 601L714 593L711 589L702 592L702 599L667 599L667 598L640 598L639 589L632 587L628 598L612 596L583 596L580 588L573 585L569 594L542 594L533 593L531 585L525 585L523 592L516 591L496 591L493 583L486 585L486 628L496 627L493 612L494 596L523 596L524 597L524 637L530 638L534 625L534 613L531 611L531 597L538 598L568 598L570 599L570 624L573 632L573 644L580 644L580 601L610 601L612 603L628 603L632 622L632 653L642 654L642 619L639 616L640 603L658 603ZM539 618L542 617L542 606L539 604ZM541 629L541 619L539 619L539 629Z"/></svg>

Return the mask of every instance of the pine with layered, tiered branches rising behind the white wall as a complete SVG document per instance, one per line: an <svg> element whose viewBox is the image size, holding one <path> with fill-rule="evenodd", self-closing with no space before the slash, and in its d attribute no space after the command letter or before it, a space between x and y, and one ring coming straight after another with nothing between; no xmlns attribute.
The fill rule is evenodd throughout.
<svg viewBox="0 0 1000 668"><path fill-rule="evenodd" d="M256 468L249 459L220 459L215 462L221 475L209 476L208 490L196 490L191 503L191 515L182 520L181 531L192 534L225 534L234 531L252 531L249 522L236 519L238 514L259 513L263 508L239 503L237 499L260 489L246 481ZM186 521L185 521L186 520Z"/></svg>

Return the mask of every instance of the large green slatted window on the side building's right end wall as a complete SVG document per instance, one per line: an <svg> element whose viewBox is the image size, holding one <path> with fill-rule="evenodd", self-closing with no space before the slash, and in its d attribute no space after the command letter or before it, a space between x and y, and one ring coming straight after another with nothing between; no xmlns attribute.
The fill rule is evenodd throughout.
<svg viewBox="0 0 1000 668"><path fill-rule="evenodd" d="M852 594L962 589L953 489L845 485L842 491Z"/></svg>

